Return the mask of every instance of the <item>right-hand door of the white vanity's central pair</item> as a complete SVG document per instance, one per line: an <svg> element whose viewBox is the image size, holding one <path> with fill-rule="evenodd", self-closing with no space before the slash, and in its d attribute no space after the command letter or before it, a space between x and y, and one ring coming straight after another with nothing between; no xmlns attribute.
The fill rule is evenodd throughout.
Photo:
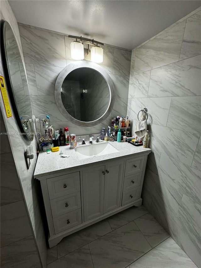
<svg viewBox="0 0 201 268"><path fill-rule="evenodd" d="M120 206L123 161L108 163L105 172L104 213Z"/></svg>

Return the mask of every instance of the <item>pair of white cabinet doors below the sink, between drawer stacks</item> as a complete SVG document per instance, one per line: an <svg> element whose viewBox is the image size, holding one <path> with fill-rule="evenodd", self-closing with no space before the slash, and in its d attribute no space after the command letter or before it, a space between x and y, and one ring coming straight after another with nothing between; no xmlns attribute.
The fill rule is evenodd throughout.
<svg viewBox="0 0 201 268"><path fill-rule="evenodd" d="M120 206L124 161L82 171L84 222Z"/></svg>

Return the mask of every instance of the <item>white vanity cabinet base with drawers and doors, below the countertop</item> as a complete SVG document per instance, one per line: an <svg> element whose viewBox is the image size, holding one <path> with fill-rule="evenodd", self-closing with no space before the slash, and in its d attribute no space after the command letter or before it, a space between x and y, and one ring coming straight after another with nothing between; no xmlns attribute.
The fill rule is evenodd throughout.
<svg viewBox="0 0 201 268"><path fill-rule="evenodd" d="M133 205L140 206L149 152L40 176L50 248L73 232Z"/></svg>

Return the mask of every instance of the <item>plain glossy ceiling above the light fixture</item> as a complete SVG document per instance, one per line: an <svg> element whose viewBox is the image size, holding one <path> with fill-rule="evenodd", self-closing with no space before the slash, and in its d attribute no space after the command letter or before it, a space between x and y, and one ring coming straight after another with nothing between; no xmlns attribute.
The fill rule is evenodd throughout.
<svg viewBox="0 0 201 268"><path fill-rule="evenodd" d="M9 0L18 22L132 50L201 1Z"/></svg>

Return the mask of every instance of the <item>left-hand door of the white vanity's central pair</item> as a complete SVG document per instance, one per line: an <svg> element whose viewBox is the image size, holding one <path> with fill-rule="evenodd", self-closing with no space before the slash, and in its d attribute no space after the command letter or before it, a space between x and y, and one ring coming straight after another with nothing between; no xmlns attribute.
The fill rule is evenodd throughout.
<svg viewBox="0 0 201 268"><path fill-rule="evenodd" d="M105 166L82 171L84 222L103 214Z"/></svg>

